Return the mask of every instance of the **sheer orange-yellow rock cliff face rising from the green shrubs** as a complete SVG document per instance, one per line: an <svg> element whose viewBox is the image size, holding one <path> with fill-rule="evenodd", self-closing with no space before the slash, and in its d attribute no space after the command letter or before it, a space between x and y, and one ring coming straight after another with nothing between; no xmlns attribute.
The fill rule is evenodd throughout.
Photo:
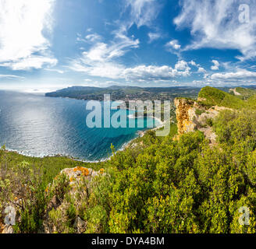
<svg viewBox="0 0 256 249"><path fill-rule="evenodd" d="M176 119L179 134L194 132L197 125L194 123L195 102L187 99L175 99Z"/></svg>

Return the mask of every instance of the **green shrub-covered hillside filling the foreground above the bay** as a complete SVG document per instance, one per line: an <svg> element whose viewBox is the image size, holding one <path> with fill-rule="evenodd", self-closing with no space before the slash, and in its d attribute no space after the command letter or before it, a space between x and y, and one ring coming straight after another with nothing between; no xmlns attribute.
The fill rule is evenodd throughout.
<svg viewBox="0 0 256 249"><path fill-rule="evenodd" d="M199 131L177 137L172 125L164 138L151 131L124 151L112 147L111 160L99 165L35 160L2 149L1 209L16 205L15 232L255 233L256 111L212 88L199 96L236 107L211 122L215 146ZM87 181L84 169L79 184L59 175L76 166L104 174ZM241 207L250 210L249 225L239 223Z"/></svg>

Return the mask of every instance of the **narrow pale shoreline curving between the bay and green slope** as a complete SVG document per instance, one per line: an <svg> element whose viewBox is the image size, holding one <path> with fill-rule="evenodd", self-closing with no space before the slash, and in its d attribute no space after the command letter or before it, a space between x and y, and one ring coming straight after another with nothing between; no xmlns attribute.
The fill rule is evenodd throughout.
<svg viewBox="0 0 256 249"><path fill-rule="evenodd" d="M151 117L151 118L154 118L155 120L157 120L159 122L159 125L157 125L155 128L149 128L149 129L146 129L144 131L138 131L136 133L136 135L137 135L136 138L131 139L129 142L124 143L123 146L121 146L121 148L118 149L116 152L125 150L128 146L130 146L130 144L135 139L142 138L147 132L156 131L159 128L162 128L165 125L165 122L162 122L159 118L157 118L157 117ZM73 156L67 156L67 155L62 155L62 154L44 155L44 156L33 156L33 155L29 155L28 153L23 153L21 151L18 151L16 149L8 149L8 148L5 149L5 152L7 152L7 153L17 153L20 156L27 156L27 157L30 157L30 158L37 158L37 159L44 159L44 158L48 158L48 157L52 157L52 158L53 157L63 157L63 158L68 158L69 160L73 160L73 161L81 162L81 163L105 163L108 160L110 160L112 158L112 156L113 156L112 155L112 156L109 156L108 158L101 159L101 160L89 161L89 160L81 160L81 159L75 158Z"/></svg>

